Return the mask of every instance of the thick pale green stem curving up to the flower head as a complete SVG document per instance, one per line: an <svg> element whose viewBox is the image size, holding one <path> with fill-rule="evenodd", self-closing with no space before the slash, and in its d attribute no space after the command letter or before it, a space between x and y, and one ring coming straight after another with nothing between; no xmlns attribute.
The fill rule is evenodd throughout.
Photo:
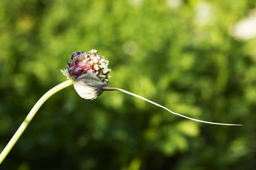
<svg viewBox="0 0 256 170"><path fill-rule="evenodd" d="M16 131L14 136L8 142L8 145L5 146L5 149L0 154L0 164L2 163L3 160L5 160L5 157L9 154L9 152L11 151L11 148L14 147L15 143L23 134L24 130L26 130L26 127L29 125L30 121L35 116L35 113L38 112L38 109L44 104L44 102L47 99L49 99L53 94L56 94L56 92L72 84L73 84L73 81L71 79L68 79L65 82L60 83L59 85L56 85L54 88L50 89L50 91L47 91L47 93L44 94L44 96L42 96L37 103L35 103L35 106L31 109L31 111L29 112L29 115L26 116L25 120L20 125L19 129Z"/></svg>

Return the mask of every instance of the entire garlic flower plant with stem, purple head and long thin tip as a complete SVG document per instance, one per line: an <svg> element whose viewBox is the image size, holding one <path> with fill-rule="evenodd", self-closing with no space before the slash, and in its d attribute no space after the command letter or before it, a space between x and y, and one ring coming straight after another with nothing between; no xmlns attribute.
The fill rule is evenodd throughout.
<svg viewBox="0 0 256 170"><path fill-rule="evenodd" d="M195 118L189 118L185 115L178 114L176 112L172 112L167 109L165 106L162 106L158 103L154 103L151 100L146 99L145 97L141 97L137 94L133 94L129 91L125 91L121 88L109 88L108 73L111 72L111 69L108 68L108 61L102 55L99 55L96 49L92 49L89 52L73 52L70 60L68 61L67 68L65 70L61 70L62 73L67 76L68 80L65 82L56 85L54 88L47 91L35 106L31 109L29 114L26 116L23 123L18 128L17 132L14 133L14 136L8 142L8 145L4 148L2 153L0 154L0 164L8 153L11 151L11 148L14 147L15 143L20 136L23 134L26 127L34 118L38 109L43 105L43 103L50 98L56 92L62 90L63 88L69 87L69 85L74 85L75 91L78 92L78 95L84 99L94 100L96 97L99 97L103 93L103 91L121 91L125 94L130 94L133 97L138 97L142 100L147 101L148 103L154 104L162 109L165 109L168 112L171 112L174 115L178 115L182 118L187 118L192 121L198 121L205 124L216 124L216 125L226 125L226 126L242 126L242 124L222 124L215 123L211 121L201 121Z"/></svg>

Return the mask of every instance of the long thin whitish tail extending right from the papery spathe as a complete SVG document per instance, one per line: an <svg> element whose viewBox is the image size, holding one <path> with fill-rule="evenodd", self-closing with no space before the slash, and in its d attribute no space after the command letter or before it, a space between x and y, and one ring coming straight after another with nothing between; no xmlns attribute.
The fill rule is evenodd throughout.
<svg viewBox="0 0 256 170"><path fill-rule="evenodd" d="M221 123L215 123L215 122L211 122L211 121L201 121L201 120L198 120L198 119L195 119L195 118L190 118L190 117L187 117L187 116L185 116L185 115L181 115L181 114L178 114L178 113L176 113L176 112L172 112L170 109L167 109L165 106L162 106L162 105L160 105L160 104L158 104L158 103L154 103L154 102L151 101L151 100L148 100L148 99L146 99L146 98L144 98L144 97L141 97L141 96L139 96L139 95L137 95L137 94L133 94L133 93L131 93L131 92L129 92L129 91L125 91L125 90L123 90L123 89L121 89L121 88L108 88L108 87L105 87L104 90L105 90L105 91L121 91L121 92L123 92L123 93L130 94L130 95L132 95L132 96L134 96L134 97L138 97L138 98L140 98L140 99L142 99L142 100L145 100L145 101L147 101L148 103L152 103L152 104L154 104L155 106L158 106L158 107L160 107L160 108L166 109L168 112L171 112L171 113L174 114L174 115L178 115L178 116L180 116L180 117L187 118L187 119L190 119L190 120L192 120L192 121L198 121L198 122L205 123L205 124L217 124L217 125L226 125L226 126L243 126L242 124L221 124Z"/></svg>

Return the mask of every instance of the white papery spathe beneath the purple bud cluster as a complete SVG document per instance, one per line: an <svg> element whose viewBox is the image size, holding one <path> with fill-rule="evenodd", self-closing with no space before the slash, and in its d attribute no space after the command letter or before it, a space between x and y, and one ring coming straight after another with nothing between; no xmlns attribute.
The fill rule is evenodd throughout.
<svg viewBox="0 0 256 170"><path fill-rule="evenodd" d="M78 92L79 96L89 100L99 97L105 87L107 86L91 70L79 76L74 82L75 91Z"/></svg>

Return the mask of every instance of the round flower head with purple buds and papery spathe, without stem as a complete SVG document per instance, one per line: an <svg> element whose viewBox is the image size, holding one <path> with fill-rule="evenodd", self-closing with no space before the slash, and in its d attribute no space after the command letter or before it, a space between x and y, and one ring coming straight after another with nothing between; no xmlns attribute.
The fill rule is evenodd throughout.
<svg viewBox="0 0 256 170"><path fill-rule="evenodd" d="M61 70L68 79L74 80L75 91L84 98L93 100L103 93L108 85L108 61L98 55L96 49L73 52L67 69Z"/></svg>

